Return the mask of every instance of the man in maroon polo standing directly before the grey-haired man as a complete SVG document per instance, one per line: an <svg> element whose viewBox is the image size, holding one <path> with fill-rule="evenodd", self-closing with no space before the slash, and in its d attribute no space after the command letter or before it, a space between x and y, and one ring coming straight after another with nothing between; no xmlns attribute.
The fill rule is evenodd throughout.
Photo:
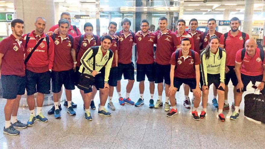
<svg viewBox="0 0 265 149"><path fill-rule="evenodd" d="M76 112L72 107L72 90L74 87L74 70L76 69L76 51L74 39L71 35L67 34L69 29L69 22L61 19L59 24L59 34L52 35L54 42L54 63L51 71L51 85L53 92L53 109L54 117L60 118L59 110L59 92L62 85L65 88L65 95L67 99L67 113L75 115ZM48 113L49 114L49 113Z"/></svg>

